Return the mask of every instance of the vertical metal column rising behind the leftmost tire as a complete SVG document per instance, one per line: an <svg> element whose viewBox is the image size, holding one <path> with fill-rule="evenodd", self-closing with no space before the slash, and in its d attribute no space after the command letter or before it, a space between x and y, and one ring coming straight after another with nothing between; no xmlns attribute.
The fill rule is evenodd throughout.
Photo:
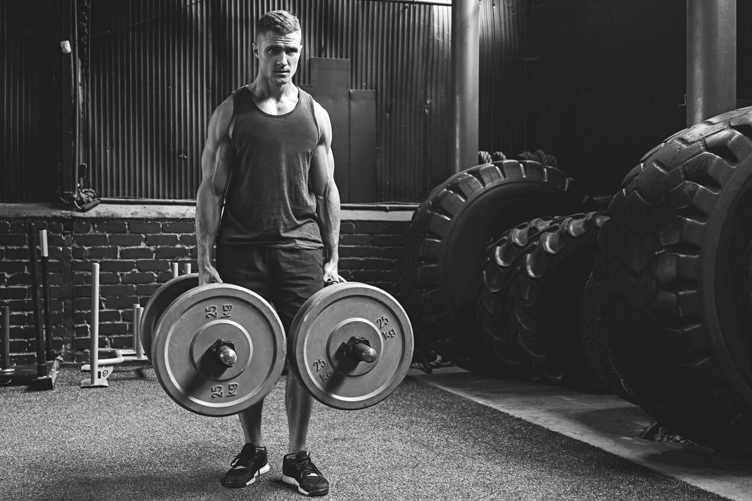
<svg viewBox="0 0 752 501"><path fill-rule="evenodd" d="M452 173L478 164L480 2L452 2Z"/></svg>

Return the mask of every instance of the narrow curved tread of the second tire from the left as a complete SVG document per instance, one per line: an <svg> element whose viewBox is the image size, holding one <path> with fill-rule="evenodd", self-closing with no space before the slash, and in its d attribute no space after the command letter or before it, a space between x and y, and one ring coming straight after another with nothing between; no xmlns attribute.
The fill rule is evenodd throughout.
<svg viewBox="0 0 752 501"><path fill-rule="evenodd" d="M491 246L481 268L481 289L476 302L478 329L492 346L494 358L516 377L536 379L529 361L523 358L517 332L511 330L509 287L520 273L520 261L532 242L559 219L553 216L531 219L505 232Z"/></svg>

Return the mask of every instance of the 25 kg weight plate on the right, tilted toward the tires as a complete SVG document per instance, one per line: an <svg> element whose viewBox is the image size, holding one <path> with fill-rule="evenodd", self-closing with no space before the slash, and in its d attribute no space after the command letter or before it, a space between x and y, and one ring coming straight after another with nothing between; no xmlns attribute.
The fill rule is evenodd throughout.
<svg viewBox="0 0 752 501"><path fill-rule="evenodd" d="M290 365L308 391L336 409L363 409L388 397L405 378L413 330L394 297L358 282L329 285L311 296L290 327ZM343 343L362 337L376 350L372 363L344 355Z"/></svg>

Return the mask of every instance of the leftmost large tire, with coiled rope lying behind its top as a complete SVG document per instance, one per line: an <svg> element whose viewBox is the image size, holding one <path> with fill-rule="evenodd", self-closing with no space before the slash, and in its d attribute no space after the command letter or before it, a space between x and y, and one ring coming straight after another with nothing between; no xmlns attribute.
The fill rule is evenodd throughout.
<svg viewBox="0 0 752 501"><path fill-rule="evenodd" d="M434 189L405 231L402 301L416 342L453 360L478 346L473 302L484 250L536 216L581 210L584 193L560 171L505 160L468 168Z"/></svg>

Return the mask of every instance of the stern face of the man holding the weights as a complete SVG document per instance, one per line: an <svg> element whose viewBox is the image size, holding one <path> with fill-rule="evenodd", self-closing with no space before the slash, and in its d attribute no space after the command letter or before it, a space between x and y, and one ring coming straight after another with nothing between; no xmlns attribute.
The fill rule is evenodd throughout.
<svg viewBox="0 0 752 501"><path fill-rule="evenodd" d="M259 58L259 73L278 86L290 82L298 69L303 48L300 41L300 31L287 35L274 32L259 35L253 47L253 52Z"/></svg>

